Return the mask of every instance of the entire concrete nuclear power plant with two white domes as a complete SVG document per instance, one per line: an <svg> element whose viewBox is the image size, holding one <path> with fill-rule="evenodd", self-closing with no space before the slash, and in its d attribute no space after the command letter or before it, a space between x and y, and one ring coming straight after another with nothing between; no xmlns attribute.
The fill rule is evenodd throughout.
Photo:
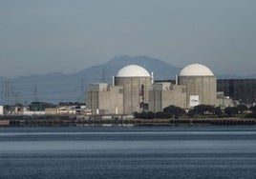
<svg viewBox="0 0 256 179"><path fill-rule="evenodd" d="M214 73L201 64L183 68L175 82L154 82L153 72L129 65L117 72L113 84L92 84L86 92L87 108L96 114L132 114L161 111L174 105L190 109L197 105L228 106L231 99L217 92Z"/></svg>

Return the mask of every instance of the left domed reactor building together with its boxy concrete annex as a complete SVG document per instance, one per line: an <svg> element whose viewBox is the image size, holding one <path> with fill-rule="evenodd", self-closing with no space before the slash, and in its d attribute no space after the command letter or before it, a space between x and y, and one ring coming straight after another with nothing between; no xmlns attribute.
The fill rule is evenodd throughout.
<svg viewBox="0 0 256 179"><path fill-rule="evenodd" d="M86 92L86 104L100 114L147 110L151 85L152 76L147 70L137 65L126 66L113 77L113 85L91 85Z"/></svg>

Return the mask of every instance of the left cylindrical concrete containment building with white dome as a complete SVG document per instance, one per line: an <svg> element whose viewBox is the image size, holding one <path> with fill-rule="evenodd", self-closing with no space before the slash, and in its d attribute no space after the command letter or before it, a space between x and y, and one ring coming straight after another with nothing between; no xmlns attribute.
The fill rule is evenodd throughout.
<svg viewBox="0 0 256 179"><path fill-rule="evenodd" d="M115 86L123 88L123 113L148 109L148 91L152 85L152 76L138 65L129 65L117 72Z"/></svg>

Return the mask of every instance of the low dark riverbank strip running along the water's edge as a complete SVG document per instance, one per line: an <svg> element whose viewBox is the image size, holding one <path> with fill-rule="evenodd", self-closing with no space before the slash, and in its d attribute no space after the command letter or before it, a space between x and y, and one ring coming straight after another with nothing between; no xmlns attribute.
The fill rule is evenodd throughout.
<svg viewBox="0 0 256 179"><path fill-rule="evenodd" d="M77 118L74 116L47 118L11 118L0 120L0 126L10 127L56 127L56 126L203 126L203 125L256 125L256 119L245 118L200 118L200 119L122 119L122 118Z"/></svg>

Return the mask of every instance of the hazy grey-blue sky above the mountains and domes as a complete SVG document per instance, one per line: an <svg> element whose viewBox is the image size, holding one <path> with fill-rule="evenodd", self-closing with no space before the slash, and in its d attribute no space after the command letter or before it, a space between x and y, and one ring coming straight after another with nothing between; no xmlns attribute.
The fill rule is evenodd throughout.
<svg viewBox="0 0 256 179"><path fill-rule="evenodd" d="M0 0L0 76L72 73L120 54L256 73L256 0Z"/></svg>

